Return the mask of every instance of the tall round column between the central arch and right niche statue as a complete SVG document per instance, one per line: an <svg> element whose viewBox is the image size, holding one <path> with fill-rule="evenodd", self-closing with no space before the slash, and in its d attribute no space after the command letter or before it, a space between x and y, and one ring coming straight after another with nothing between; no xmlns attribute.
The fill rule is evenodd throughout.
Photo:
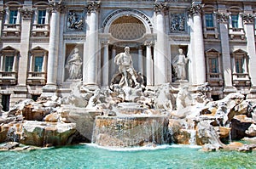
<svg viewBox="0 0 256 169"><path fill-rule="evenodd" d="M154 3L154 12L156 15L155 33L157 40L155 42L154 54L154 85L160 85L167 82L166 74L166 25L165 11L166 3Z"/></svg>

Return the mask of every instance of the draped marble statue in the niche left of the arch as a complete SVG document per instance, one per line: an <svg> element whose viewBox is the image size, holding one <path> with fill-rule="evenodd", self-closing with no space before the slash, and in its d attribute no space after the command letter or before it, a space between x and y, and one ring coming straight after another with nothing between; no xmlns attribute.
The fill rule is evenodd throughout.
<svg viewBox="0 0 256 169"><path fill-rule="evenodd" d="M73 54L67 58L65 68L68 70L68 79L80 79L82 77L82 58L79 55L79 48L73 49Z"/></svg>

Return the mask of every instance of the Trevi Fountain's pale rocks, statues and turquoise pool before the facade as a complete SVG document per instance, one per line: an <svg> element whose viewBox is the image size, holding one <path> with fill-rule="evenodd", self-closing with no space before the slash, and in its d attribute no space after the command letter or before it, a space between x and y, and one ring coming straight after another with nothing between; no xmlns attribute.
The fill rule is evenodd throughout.
<svg viewBox="0 0 256 169"><path fill-rule="evenodd" d="M80 65L70 60L72 79ZM147 87L125 47L109 87L77 81L65 97L42 95L1 110L0 168L255 167L256 101L241 93L212 101L207 83L184 80L188 61L179 49L177 87Z"/></svg>

